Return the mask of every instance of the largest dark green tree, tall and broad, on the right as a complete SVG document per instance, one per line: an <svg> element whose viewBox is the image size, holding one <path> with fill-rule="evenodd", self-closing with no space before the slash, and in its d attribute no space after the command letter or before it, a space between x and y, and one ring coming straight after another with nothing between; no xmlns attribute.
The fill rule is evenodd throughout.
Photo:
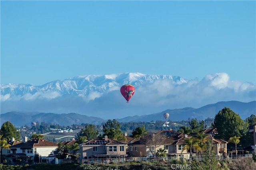
<svg viewBox="0 0 256 170"><path fill-rule="evenodd" d="M228 140L233 136L244 136L247 132L247 126L240 115L234 113L230 108L225 107L215 115L212 127L217 128L217 139Z"/></svg>

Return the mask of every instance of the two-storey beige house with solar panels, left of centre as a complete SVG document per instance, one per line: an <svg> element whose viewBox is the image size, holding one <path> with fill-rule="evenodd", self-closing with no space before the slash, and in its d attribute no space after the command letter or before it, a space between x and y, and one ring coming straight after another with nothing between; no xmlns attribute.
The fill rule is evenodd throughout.
<svg viewBox="0 0 256 170"><path fill-rule="evenodd" d="M82 159L92 158L125 158L126 144L105 136L103 139L92 139L79 145Z"/></svg>

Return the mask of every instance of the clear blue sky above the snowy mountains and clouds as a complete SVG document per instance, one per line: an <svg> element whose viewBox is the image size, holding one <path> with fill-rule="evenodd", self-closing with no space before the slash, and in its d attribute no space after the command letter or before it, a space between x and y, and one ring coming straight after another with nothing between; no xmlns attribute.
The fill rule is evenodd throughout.
<svg viewBox="0 0 256 170"><path fill-rule="evenodd" d="M1 84L140 72L256 81L255 1L1 1Z"/></svg>

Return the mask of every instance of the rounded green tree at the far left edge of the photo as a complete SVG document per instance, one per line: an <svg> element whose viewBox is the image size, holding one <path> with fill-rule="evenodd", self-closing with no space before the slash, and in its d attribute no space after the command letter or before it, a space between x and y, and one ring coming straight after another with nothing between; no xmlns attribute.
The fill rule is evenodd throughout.
<svg viewBox="0 0 256 170"><path fill-rule="evenodd" d="M10 121L6 121L3 123L0 133L3 139L6 141L10 141L13 137L16 140L20 140L20 132L14 127L14 125Z"/></svg>

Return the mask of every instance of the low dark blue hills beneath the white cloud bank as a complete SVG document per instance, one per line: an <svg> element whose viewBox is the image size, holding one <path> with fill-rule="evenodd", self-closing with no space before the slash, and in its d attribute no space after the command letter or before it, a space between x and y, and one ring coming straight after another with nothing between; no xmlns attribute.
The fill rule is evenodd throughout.
<svg viewBox="0 0 256 170"><path fill-rule="evenodd" d="M244 103L238 101L229 101L229 102L218 102L216 104L208 104L206 106L200 107L198 109L192 107L185 107L182 109L167 109L159 113L142 115L142 116L132 116L124 117L122 119L116 119L119 122L129 122L129 121L164 121L163 114L169 113L171 121L181 121L190 119L204 120L207 117L214 118L215 115L223 109L224 107L229 107L235 113L238 113L242 119L246 119L252 114L256 114L256 101ZM99 125L104 120L100 117L89 117L86 115L80 115L78 113L40 113L40 112L8 112L0 115L0 122L10 121L15 126L30 126L31 122L46 122L59 125L72 125L77 124L81 125L82 123L90 123Z"/></svg>

